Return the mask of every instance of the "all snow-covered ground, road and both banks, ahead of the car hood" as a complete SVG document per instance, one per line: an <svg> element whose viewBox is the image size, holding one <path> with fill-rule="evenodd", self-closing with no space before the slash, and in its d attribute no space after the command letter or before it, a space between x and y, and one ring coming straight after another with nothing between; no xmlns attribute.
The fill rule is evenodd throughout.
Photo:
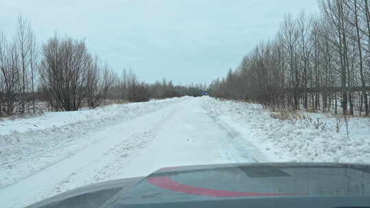
<svg viewBox="0 0 370 208"><path fill-rule="evenodd" d="M370 120L271 118L260 105L210 97L47 113L0 124L0 207L167 166L260 161L370 161Z"/></svg>

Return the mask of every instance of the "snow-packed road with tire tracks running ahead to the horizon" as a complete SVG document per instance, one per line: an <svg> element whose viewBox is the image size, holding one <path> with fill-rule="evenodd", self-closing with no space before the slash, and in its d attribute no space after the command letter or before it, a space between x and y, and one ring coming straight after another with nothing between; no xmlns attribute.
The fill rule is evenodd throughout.
<svg viewBox="0 0 370 208"><path fill-rule="evenodd" d="M73 148L78 151L69 157L3 187L0 207L23 207L82 185L145 176L167 166L257 161L253 146L212 116L201 98L99 129Z"/></svg>

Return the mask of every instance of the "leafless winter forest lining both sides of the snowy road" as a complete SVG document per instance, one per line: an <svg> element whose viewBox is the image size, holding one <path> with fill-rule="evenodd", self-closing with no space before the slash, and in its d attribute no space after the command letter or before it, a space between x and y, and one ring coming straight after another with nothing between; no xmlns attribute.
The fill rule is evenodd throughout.
<svg viewBox="0 0 370 208"><path fill-rule="evenodd" d="M271 109L306 109L343 115L370 112L368 0L319 0L320 13L286 14L275 38L261 40L223 79L174 86L145 83L132 70L116 73L83 40L56 34L38 44L31 23L19 17L14 37L0 31L0 117L95 108L106 102L174 96L211 96L262 103Z"/></svg>

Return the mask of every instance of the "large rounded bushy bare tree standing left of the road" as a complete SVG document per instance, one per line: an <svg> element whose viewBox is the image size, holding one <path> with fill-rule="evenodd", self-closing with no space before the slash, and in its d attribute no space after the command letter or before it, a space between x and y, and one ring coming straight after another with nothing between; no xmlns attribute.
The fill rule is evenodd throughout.
<svg viewBox="0 0 370 208"><path fill-rule="evenodd" d="M42 55L40 83L48 103L58 111L81 108L94 67L84 41L56 35L42 46Z"/></svg>

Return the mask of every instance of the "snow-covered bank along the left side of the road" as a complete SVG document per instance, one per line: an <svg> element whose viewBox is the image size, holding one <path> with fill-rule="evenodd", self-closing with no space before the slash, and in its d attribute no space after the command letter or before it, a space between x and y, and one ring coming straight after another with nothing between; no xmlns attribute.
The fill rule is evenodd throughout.
<svg viewBox="0 0 370 208"><path fill-rule="evenodd" d="M51 112L0 122L0 188L77 153L112 125L180 103L188 97L110 105L78 112ZM16 177L14 177L16 176Z"/></svg>

